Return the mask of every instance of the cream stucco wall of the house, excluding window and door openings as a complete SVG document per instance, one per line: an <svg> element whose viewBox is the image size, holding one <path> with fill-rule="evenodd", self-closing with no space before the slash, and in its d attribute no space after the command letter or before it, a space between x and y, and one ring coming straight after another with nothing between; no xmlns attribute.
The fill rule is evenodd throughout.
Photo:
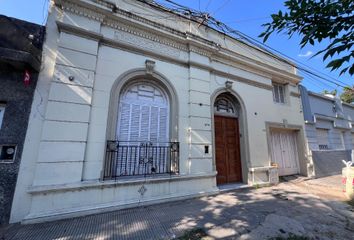
<svg viewBox="0 0 354 240"><path fill-rule="evenodd" d="M78 6L70 6L52 7L49 15L41 96L36 95L36 101L43 100L40 109L45 117L31 116L31 138L26 140L31 157L27 166L21 166L13 222L214 192L212 105L221 91L229 91L243 106L244 182L249 182L250 167L265 167L259 179L267 181L266 124L303 128L298 87L291 72L284 72L292 78L286 85L288 102L276 104L273 77L262 69L254 71L227 58L217 59L212 46L178 39L146 23L123 19L126 16L103 21L99 12L86 9L89 15L85 15L70 10ZM135 184L101 182L112 87L127 73L147 71L146 60L155 62L154 74L162 76L176 93L178 112L173 117L177 126L173 127L180 142L180 180L157 178L158 182L148 185L141 179ZM277 67L269 64L269 69ZM232 82L231 88L226 89L226 81ZM206 145L210 147L207 154ZM30 154L29 149L35 152ZM33 169L33 174L26 173L25 167ZM187 184L184 179L188 186L183 186ZM145 185L147 192L142 196L138 190Z"/></svg>

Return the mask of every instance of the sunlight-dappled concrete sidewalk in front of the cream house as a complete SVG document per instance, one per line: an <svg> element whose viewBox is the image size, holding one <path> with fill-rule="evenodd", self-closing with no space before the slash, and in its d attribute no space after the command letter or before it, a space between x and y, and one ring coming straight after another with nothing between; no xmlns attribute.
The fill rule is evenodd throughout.
<svg viewBox="0 0 354 240"><path fill-rule="evenodd" d="M314 239L353 239L345 217L329 201L296 184L281 183L56 222L13 225L3 239L173 239L195 228L205 229L209 239L269 239L289 233Z"/></svg>

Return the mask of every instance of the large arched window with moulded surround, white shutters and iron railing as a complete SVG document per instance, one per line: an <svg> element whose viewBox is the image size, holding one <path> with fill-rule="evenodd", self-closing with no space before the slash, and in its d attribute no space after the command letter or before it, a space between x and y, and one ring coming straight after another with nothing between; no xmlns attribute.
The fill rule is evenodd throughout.
<svg viewBox="0 0 354 240"><path fill-rule="evenodd" d="M128 73L112 88L104 179L179 172L175 91L145 74Z"/></svg>

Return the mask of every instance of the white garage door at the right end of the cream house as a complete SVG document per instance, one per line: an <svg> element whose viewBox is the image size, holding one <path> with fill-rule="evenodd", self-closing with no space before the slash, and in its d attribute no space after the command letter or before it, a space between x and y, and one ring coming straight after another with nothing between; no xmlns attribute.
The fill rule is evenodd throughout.
<svg viewBox="0 0 354 240"><path fill-rule="evenodd" d="M271 157L278 164L279 176L299 173L299 154L295 131L271 131Z"/></svg>

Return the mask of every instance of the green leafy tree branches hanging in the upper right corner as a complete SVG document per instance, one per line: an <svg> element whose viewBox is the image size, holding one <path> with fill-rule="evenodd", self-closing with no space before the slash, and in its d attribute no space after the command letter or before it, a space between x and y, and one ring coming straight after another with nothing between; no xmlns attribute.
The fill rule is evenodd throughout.
<svg viewBox="0 0 354 240"><path fill-rule="evenodd" d="M354 0L286 0L287 10L272 14L272 22L263 24L263 41L276 32L291 38L299 34L300 46L314 45L327 39L330 43L314 56L331 59L327 68L354 75Z"/></svg>

